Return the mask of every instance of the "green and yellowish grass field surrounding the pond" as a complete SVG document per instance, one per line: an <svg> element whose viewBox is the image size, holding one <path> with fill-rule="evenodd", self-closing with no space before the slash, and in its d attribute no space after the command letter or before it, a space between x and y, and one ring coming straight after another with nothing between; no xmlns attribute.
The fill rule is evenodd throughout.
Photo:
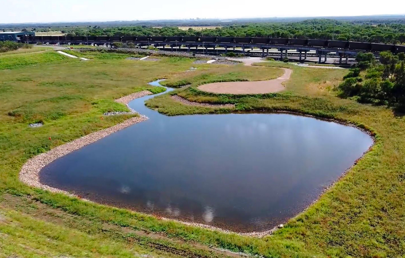
<svg viewBox="0 0 405 258"><path fill-rule="evenodd" d="M386 107L337 98L333 86L347 71L260 63L294 70L286 92L234 96L201 92L196 85L224 78L268 79L279 70L196 65L188 58L144 62L111 57L81 62L51 60L48 52L23 56L23 64L50 61L17 66L0 57L0 64L13 67L0 70L0 257L205 258L230 254L219 248L269 258L405 257L405 119ZM197 69L185 72L191 66ZM234 103L235 111L288 110L350 121L375 133L376 143L318 202L261 239L159 220L19 182L19 170L28 158L128 118L100 120L100 115L126 110L114 99L148 89L147 82L158 78L171 78L166 82L170 85L187 80L190 86L171 94L193 101ZM224 112L185 106L168 94L147 104L168 115ZM28 127L39 120L44 126Z"/></svg>

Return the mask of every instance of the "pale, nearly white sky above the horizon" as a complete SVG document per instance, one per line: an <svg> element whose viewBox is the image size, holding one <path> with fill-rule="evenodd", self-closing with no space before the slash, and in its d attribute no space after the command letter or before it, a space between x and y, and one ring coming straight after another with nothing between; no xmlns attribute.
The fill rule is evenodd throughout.
<svg viewBox="0 0 405 258"><path fill-rule="evenodd" d="M405 0L1 0L0 23L405 14Z"/></svg>

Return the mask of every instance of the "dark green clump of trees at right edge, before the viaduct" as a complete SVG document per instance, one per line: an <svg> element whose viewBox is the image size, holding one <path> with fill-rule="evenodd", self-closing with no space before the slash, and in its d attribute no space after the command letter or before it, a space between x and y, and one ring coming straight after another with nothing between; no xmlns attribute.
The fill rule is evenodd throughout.
<svg viewBox="0 0 405 258"><path fill-rule="evenodd" d="M338 90L345 98L359 102L387 104L405 111L405 53L380 53L379 62L373 53L359 53L359 67L343 77Z"/></svg>

